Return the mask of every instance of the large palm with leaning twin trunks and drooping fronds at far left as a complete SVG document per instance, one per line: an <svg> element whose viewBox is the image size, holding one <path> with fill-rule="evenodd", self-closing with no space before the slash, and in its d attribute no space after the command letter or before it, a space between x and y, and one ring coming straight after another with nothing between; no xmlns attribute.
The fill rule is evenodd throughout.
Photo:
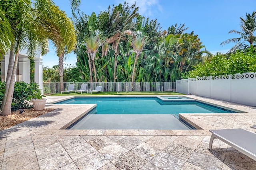
<svg viewBox="0 0 256 170"><path fill-rule="evenodd" d="M46 54L48 39L61 41L61 47L67 45L65 39L60 39L62 36L56 36L58 33L64 34L60 29L67 31L65 27L68 23L61 14L64 15L51 0L0 1L0 52L10 51L5 92L0 108L2 115L11 113L19 51L26 48L28 56L33 58L38 48L42 55Z"/></svg>

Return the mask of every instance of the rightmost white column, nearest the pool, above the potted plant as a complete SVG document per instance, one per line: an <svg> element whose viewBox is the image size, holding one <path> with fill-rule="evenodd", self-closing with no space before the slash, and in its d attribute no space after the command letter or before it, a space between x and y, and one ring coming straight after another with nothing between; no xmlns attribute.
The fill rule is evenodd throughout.
<svg viewBox="0 0 256 170"><path fill-rule="evenodd" d="M43 59L41 56L40 58L35 58L35 82L39 84L39 88L43 94Z"/></svg>

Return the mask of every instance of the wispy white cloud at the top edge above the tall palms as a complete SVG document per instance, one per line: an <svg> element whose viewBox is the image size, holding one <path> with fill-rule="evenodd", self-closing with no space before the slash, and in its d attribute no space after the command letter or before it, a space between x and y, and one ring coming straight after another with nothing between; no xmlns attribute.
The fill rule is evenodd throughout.
<svg viewBox="0 0 256 170"><path fill-rule="evenodd" d="M142 16L153 16L154 13L163 11L162 6L159 4L159 0L126 0L129 5L136 2L136 6L139 7L139 13Z"/></svg>

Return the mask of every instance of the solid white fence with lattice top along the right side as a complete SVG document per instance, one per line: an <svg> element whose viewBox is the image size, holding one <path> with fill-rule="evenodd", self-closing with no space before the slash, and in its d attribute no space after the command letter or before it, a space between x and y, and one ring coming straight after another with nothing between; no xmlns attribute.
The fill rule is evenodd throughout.
<svg viewBox="0 0 256 170"><path fill-rule="evenodd" d="M256 106L256 72L177 80L177 92Z"/></svg>

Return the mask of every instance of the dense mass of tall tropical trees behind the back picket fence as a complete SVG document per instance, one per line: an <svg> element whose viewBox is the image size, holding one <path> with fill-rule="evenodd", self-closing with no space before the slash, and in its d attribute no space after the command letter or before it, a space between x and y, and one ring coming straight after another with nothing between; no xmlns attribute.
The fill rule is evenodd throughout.
<svg viewBox="0 0 256 170"><path fill-rule="evenodd" d="M176 81L209 55L184 24L162 30L136 4L74 14L74 25L77 68L86 82Z"/></svg>

